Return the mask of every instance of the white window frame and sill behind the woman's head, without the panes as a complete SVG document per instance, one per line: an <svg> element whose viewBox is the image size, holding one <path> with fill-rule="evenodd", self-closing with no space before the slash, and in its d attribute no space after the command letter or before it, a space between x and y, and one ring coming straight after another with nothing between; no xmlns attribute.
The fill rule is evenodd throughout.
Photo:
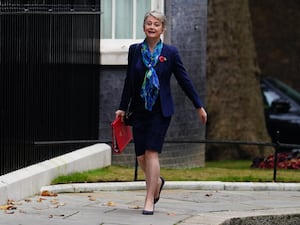
<svg viewBox="0 0 300 225"><path fill-rule="evenodd" d="M112 0L115 3L116 0ZM133 0L133 9L136 11L136 1ZM114 7L114 4L112 4ZM151 10L157 10L164 12L164 0L151 0ZM114 13L113 13L114 15ZM133 27L136 27L136 14L134 13ZM112 18L114 20L114 18ZM114 21L112 26L114 26ZM142 29L142 27L141 27ZM114 28L112 28L114 31ZM112 32L112 38L100 38L100 65L127 65L127 55L129 46L133 43L142 42L143 39L136 38L136 30L133 29L132 39L115 39L114 32Z"/></svg>

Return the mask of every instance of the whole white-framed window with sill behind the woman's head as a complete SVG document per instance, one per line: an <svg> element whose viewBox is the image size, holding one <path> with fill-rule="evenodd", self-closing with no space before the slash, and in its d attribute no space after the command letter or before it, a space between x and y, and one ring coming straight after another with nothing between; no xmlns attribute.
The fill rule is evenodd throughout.
<svg viewBox="0 0 300 225"><path fill-rule="evenodd" d="M129 45L144 39L149 10L163 11L164 0L102 0L100 64L126 65Z"/></svg>

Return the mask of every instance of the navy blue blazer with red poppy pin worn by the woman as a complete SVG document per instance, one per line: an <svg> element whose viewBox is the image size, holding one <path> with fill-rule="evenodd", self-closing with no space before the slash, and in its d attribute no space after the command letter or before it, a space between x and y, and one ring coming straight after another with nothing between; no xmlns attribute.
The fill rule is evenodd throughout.
<svg viewBox="0 0 300 225"><path fill-rule="evenodd" d="M137 62L141 62L141 44L133 44L129 47L128 67L122 92L119 109L126 111L130 98L136 93L135 74ZM159 97L161 109L164 116L168 117L174 114L174 101L171 95L170 79L174 74L178 84L185 92L187 97L192 101L195 108L203 107L200 97L194 87L186 69L183 66L176 47L163 44L161 51L161 60L158 60L155 70L159 78ZM138 90L138 91L139 91Z"/></svg>

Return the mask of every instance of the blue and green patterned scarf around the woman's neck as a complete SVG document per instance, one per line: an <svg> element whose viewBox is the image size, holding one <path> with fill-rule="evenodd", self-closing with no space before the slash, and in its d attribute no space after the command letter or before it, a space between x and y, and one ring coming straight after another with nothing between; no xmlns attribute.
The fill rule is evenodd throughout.
<svg viewBox="0 0 300 225"><path fill-rule="evenodd" d="M154 66L158 62L162 47L163 44L160 40L155 46L153 53L151 53L146 40L144 40L142 43L142 60L147 67L147 71L144 77L140 95L145 100L145 109L148 111L152 111L152 107L154 106L159 94L159 79Z"/></svg>

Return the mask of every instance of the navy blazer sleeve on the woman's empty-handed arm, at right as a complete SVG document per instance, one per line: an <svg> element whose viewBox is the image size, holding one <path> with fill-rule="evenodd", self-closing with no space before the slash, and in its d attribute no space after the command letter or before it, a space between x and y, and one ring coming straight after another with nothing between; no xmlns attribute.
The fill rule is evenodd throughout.
<svg viewBox="0 0 300 225"><path fill-rule="evenodd" d="M198 95L198 92L192 83L176 47L173 47L173 74L187 97L192 101L195 108L203 107L203 103Z"/></svg>

